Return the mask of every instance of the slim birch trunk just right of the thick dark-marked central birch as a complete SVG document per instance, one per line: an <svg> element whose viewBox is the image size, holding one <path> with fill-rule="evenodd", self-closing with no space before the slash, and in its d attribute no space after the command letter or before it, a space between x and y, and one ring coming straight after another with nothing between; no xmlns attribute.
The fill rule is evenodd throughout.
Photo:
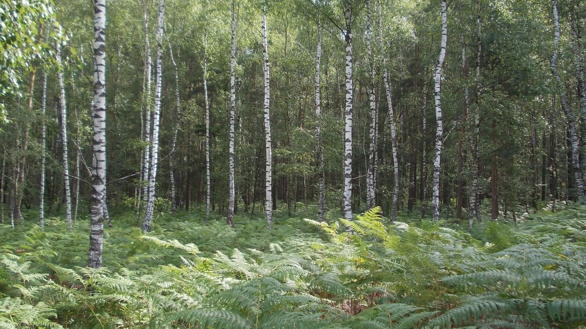
<svg viewBox="0 0 586 329"><path fill-rule="evenodd" d="M369 162L366 176L366 204L368 208L374 208L376 204L376 187L374 186L374 166L376 152L376 139L374 132L376 130L376 102L374 98L374 58L372 55L372 30L370 29L370 0L366 0L366 48L370 66L370 85L369 85L369 114L370 114L370 144L369 144Z"/></svg>

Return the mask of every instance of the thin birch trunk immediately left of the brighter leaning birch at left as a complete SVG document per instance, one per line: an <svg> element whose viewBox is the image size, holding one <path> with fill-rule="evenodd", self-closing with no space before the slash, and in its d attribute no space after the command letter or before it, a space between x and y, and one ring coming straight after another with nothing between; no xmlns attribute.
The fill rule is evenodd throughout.
<svg viewBox="0 0 586 329"><path fill-rule="evenodd" d="M151 160L151 71L152 71L152 60L151 60L151 43L149 42L149 30L148 30L148 17L147 17L147 5L144 0L142 2L142 22L144 25L145 32L145 71L144 80L146 88L143 84L143 104L145 107L145 124L144 124L144 142L145 149L142 152L142 202L147 203L148 201L148 189L149 189L149 172L150 172L150 160Z"/></svg>

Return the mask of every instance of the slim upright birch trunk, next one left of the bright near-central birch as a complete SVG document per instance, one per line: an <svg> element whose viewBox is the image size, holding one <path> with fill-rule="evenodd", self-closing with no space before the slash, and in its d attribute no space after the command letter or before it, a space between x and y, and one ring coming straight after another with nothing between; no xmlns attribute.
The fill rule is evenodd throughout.
<svg viewBox="0 0 586 329"><path fill-rule="evenodd" d="M230 123L228 131L228 213L226 224L234 227L234 117L236 115L236 19L232 0L232 34L230 48ZM206 150L207 152L207 150ZM209 152L208 152L209 153Z"/></svg>

